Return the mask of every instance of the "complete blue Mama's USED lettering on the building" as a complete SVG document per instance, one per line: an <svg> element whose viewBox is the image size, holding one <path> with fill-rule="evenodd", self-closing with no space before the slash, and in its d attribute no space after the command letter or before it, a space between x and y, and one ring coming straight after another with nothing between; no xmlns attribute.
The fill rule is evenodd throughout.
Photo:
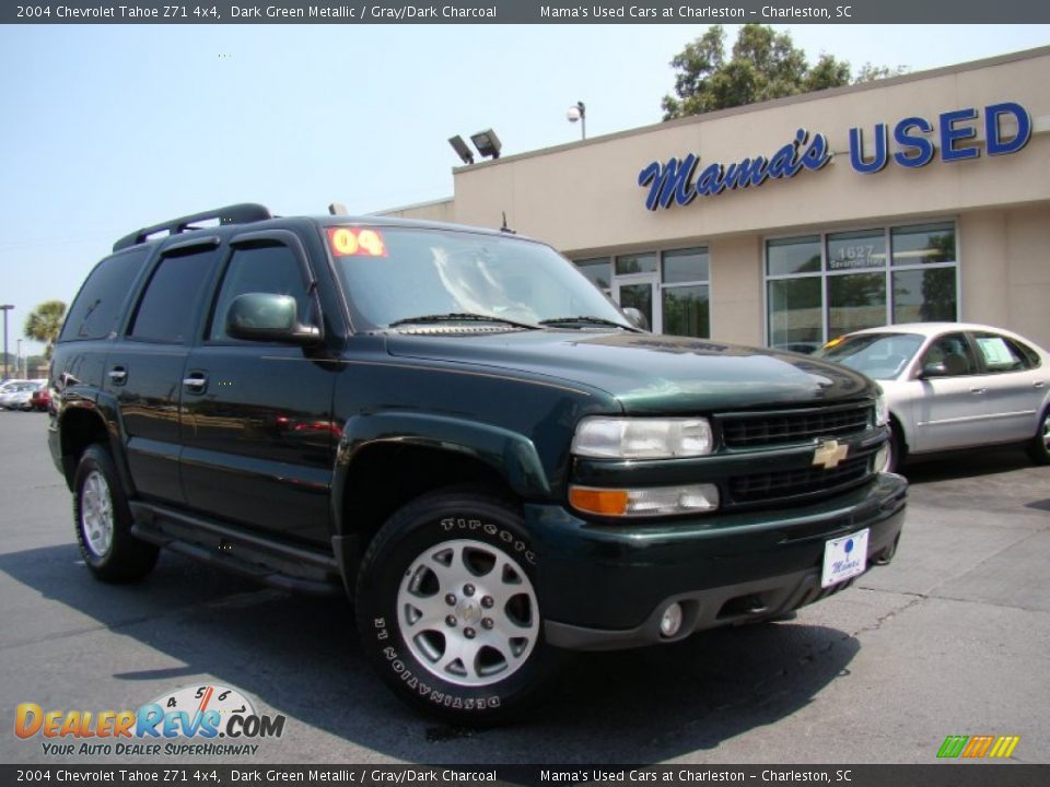
<svg viewBox="0 0 1050 787"><path fill-rule="evenodd" d="M922 117L906 117L892 127L897 150L890 156L889 126L876 124L873 134L874 152L864 155L864 136L859 127L850 129L850 166L861 174L872 174L886 168L890 158L903 167L921 167L941 152L941 161L955 162L978 158L979 148L967 144L977 137L978 110L956 109L937 116L937 128ZM1013 136L1004 136L1001 120L1013 118L1017 125ZM930 136L937 131L936 141ZM1019 104L1004 102L984 107L984 151L988 155L1016 153L1031 137L1031 118ZM684 158L668 158L646 164L638 174L638 185L649 189L645 207L670 208L687 205L697 197L713 197L723 191L761 186L771 178L789 180L802 169L817 171L824 167L833 153L824 134L810 139L805 129L795 132L795 139L783 145L769 158L755 156L730 165L719 162L700 169L700 156L689 153Z"/></svg>

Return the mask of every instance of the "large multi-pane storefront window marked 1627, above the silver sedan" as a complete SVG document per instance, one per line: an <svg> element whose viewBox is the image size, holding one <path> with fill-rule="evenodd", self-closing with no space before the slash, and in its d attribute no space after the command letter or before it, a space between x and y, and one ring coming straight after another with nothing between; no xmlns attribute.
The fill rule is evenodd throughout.
<svg viewBox="0 0 1050 787"><path fill-rule="evenodd" d="M766 281L774 346L819 344L894 322L954 321L955 223L771 239Z"/></svg>

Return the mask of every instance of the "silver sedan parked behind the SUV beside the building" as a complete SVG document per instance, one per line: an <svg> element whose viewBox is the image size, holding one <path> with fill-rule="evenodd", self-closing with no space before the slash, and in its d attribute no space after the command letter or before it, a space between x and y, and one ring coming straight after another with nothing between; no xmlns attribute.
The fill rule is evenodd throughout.
<svg viewBox="0 0 1050 787"><path fill-rule="evenodd" d="M879 381L889 468L908 456L1003 444L1050 463L1050 353L1011 331L964 322L871 328L817 353Z"/></svg>

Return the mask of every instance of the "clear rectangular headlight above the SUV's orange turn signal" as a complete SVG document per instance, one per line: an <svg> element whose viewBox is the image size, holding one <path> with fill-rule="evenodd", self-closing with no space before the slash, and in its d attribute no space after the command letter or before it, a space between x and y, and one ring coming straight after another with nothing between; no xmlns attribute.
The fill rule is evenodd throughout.
<svg viewBox="0 0 1050 787"><path fill-rule="evenodd" d="M673 459L713 448L711 423L702 418L585 418L572 438L573 454L597 459Z"/></svg>

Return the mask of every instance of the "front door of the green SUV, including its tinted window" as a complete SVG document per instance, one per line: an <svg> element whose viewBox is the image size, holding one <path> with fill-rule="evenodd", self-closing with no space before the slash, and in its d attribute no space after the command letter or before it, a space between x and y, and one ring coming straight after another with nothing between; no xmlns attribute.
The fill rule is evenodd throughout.
<svg viewBox="0 0 1050 787"><path fill-rule="evenodd" d="M329 356L228 336L238 295L295 298L300 321L318 318L314 277L296 235L248 232L231 242L203 342L182 383L183 478L187 504L208 516L323 543L338 428L331 422Z"/></svg>

